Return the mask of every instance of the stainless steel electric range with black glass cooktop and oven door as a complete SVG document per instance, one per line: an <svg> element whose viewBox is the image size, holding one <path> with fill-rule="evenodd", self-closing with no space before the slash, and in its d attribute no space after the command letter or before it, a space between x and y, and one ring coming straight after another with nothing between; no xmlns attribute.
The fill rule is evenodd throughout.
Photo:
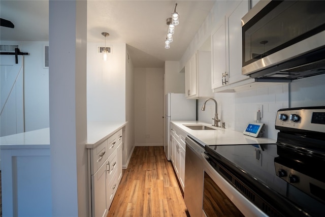
<svg viewBox="0 0 325 217"><path fill-rule="evenodd" d="M325 216L325 107L280 109L275 128L275 144L205 146L215 172L204 174L206 216L223 212L218 204L224 199L213 199L220 191L211 190L211 178L233 203L236 214L229 215Z"/></svg>

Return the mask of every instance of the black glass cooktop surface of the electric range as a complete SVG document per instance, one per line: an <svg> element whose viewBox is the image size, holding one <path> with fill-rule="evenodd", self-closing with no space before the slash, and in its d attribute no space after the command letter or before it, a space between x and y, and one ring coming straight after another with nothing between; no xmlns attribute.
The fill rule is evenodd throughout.
<svg viewBox="0 0 325 217"><path fill-rule="evenodd" d="M280 144L208 145L205 150L212 166L217 162L236 174L285 215L325 216L325 181L315 171L325 165L323 156L312 161L302 157L310 152L295 153Z"/></svg>

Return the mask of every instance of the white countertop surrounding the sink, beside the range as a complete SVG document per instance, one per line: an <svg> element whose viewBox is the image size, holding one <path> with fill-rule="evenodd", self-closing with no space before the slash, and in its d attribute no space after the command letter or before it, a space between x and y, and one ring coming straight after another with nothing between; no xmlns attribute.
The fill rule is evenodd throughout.
<svg viewBox="0 0 325 217"><path fill-rule="evenodd" d="M172 123L178 128L187 133L190 137L195 139L201 145L234 145L234 144L272 144L276 140L269 138L255 138L246 136L241 132L237 132L231 129L221 129L213 127L209 123L201 121L183 121L183 120L172 120ZM191 130L184 125L204 125L207 127L214 128L216 130Z"/></svg>

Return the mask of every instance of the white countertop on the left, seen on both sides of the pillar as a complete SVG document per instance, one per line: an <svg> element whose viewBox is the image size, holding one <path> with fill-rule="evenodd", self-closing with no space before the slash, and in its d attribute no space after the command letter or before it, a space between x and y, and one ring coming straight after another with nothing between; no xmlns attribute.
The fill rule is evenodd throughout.
<svg viewBox="0 0 325 217"><path fill-rule="evenodd" d="M88 122L86 148L92 148L116 133L127 122ZM50 148L50 129L28 131L0 137L2 149Z"/></svg>

